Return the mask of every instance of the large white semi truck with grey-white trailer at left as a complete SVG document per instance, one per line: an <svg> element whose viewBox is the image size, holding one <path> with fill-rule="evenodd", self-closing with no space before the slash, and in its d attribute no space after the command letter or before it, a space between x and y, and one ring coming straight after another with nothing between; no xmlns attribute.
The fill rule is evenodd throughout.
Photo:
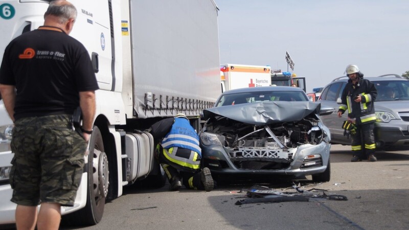
<svg viewBox="0 0 409 230"><path fill-rule="evenodd" d="M61 211L76 224L96 224L105 201L121 196L124 186L165 184L144 130L183 112L199 131L200 112L221 93L218 8L213 0L70 2L78 11L70 35L87 48L100 90L75 205ZM49 3L0 0L0 60L13 38L43 24ZM7 224L15 221L15 204L8 182L12 122L4 106L0 119L0 224Z"/></svg>

